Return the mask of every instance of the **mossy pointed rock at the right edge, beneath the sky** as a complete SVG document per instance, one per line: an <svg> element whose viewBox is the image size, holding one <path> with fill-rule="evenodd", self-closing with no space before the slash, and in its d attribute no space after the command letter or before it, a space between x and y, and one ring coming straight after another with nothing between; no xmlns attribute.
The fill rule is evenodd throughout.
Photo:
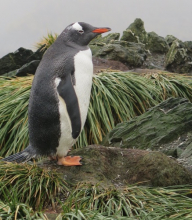
<svg viewBox="0 0 192 220"><path fill-rule="evenodd" d="M188 49L178 40L175 40L165 57L165 67L168 71L177 73L189 73L192 71L192 57Z"/></svg>

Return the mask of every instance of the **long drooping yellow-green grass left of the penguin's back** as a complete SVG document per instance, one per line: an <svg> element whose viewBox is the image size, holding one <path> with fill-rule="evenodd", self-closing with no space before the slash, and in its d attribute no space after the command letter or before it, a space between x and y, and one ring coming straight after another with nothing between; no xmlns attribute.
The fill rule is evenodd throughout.
<svg viewBox="0 0 192 220"><path fill-rule="evenodd" d="M0 155L24 149L28 138L28 100L32 77L0 78Z"/></svg>

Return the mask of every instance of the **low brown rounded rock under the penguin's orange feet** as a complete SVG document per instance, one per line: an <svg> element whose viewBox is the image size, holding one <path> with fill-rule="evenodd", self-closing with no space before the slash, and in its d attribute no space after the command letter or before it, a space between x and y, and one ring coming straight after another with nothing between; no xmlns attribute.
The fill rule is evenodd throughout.
<svg viewBox="0 0 192 220"><path fill-rule="evenodd" d="M71 183L169 186L192 182L181 165L160 152L92 145L72 150L70 155L81 155L83 165L63 167L45 161L42 166L56 168Z"/></svg>

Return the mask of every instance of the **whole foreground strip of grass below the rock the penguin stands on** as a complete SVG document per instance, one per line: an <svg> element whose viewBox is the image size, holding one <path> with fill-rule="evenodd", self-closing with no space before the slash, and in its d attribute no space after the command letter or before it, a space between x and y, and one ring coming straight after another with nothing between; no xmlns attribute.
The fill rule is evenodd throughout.
<svg viewBox="0 0 192 220"><path fill-rule="evenodd" d="M42 211L50 203L53 210L60 210L54 214L57 220L192 218L191 185L152 188L79 183L69 191L55 171L36 165L3 163L0 170L0 219L49 219L49 211L33 210Z"/></svg>

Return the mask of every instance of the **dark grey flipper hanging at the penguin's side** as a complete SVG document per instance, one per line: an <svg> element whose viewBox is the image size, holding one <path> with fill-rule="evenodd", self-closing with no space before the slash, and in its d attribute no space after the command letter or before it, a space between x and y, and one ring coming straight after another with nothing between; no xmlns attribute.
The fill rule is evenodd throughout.
<svg viewBox="0 0 192 220"><path fill-rule="evenodd" d="M76 139L81 132L81 117L71 74L61 79L57 91L59 96L65 101L67 112L71 120L72 137Z"/></svg>

